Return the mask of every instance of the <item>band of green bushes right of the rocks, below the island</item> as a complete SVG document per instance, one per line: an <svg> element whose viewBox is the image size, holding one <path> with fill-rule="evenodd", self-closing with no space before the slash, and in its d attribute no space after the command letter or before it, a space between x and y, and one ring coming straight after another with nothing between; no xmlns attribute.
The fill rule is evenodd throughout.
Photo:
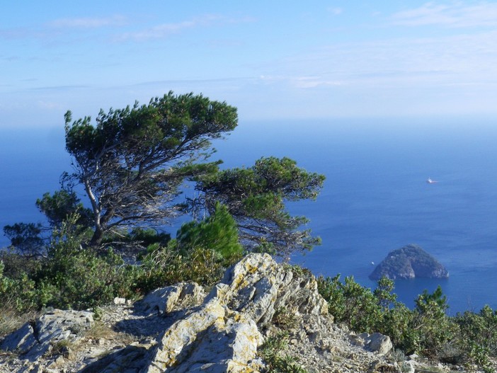
<svg viewBox="0 0 497 373"><path fill-rule="evenodd" d="M491 372L489 356L496 357L497 312L485 306L479 314L447 315L447 299L438 287L424 291L409 309L396 301L394 282L382 277L374 291L353 277L319 277L318 289L335 320L354 331L389 335L406 352L446 362L465 362Z"/></svg>

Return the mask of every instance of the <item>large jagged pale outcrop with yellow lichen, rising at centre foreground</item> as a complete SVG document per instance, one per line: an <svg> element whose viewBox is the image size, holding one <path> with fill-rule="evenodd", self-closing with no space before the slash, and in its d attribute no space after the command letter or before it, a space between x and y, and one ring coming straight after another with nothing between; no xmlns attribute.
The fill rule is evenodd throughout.
<svg viewBox="0 0 497 373"><path fill-rule="evenodd" d="M247 256L201 306L164 333L142 372L258 372L256 352L263 343L258 326L270 322L279 307L328 311L314 277L296 280L267 254Z"/></svg>

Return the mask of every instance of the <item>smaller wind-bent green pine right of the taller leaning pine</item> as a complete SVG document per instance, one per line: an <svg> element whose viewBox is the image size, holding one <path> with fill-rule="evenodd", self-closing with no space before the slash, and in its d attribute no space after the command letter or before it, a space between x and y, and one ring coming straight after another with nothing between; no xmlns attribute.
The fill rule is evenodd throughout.
<svg viewBox="0 0 497 373"><path fill-rule="evenodd" d="M309 230L298 230L308 220L292 217L285 202L314 200L324 176L297 167L292 159L261 158L249 168L204 174L195 180L200 197L189 201L190 210L212 213L218 202L226 205L246 246L287 255L320 243Z"/></svg>

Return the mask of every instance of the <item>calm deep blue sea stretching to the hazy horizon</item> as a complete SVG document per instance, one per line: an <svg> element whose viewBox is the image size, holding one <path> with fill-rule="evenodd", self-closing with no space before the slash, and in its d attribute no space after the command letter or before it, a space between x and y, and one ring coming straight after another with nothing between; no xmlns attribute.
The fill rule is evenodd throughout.
<svg viewBox="0 0 497 373"><path fill-rule="evenodd" d="M0 226L42 222L35 200L71 171L62 125L0 130ZM497 126L471 117L240 120L216 140L223 167L249 167L261 156L288 156L326 176L315 201L289 203L322 239L292 263L315 275L368 275L389 251L421 246L450 272L446 280L396 280L408 306L439 285L449 314L497 309ZM427 183L428 178L437 183ZM176 225L175 225L176 224ZM174 233L173 223L165 229ZM0 247L8 239L0 236Z"/></svg>

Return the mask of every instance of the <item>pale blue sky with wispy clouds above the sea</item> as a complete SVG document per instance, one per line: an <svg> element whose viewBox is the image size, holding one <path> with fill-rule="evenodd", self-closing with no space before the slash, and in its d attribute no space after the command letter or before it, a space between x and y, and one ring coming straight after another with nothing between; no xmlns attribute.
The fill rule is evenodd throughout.
<svg viewBox="0 0 497 373"><path fill-rule="evenodd" d="M202 93L240 120L497 116L497 1L2 1L0 128Z"/></svg>

